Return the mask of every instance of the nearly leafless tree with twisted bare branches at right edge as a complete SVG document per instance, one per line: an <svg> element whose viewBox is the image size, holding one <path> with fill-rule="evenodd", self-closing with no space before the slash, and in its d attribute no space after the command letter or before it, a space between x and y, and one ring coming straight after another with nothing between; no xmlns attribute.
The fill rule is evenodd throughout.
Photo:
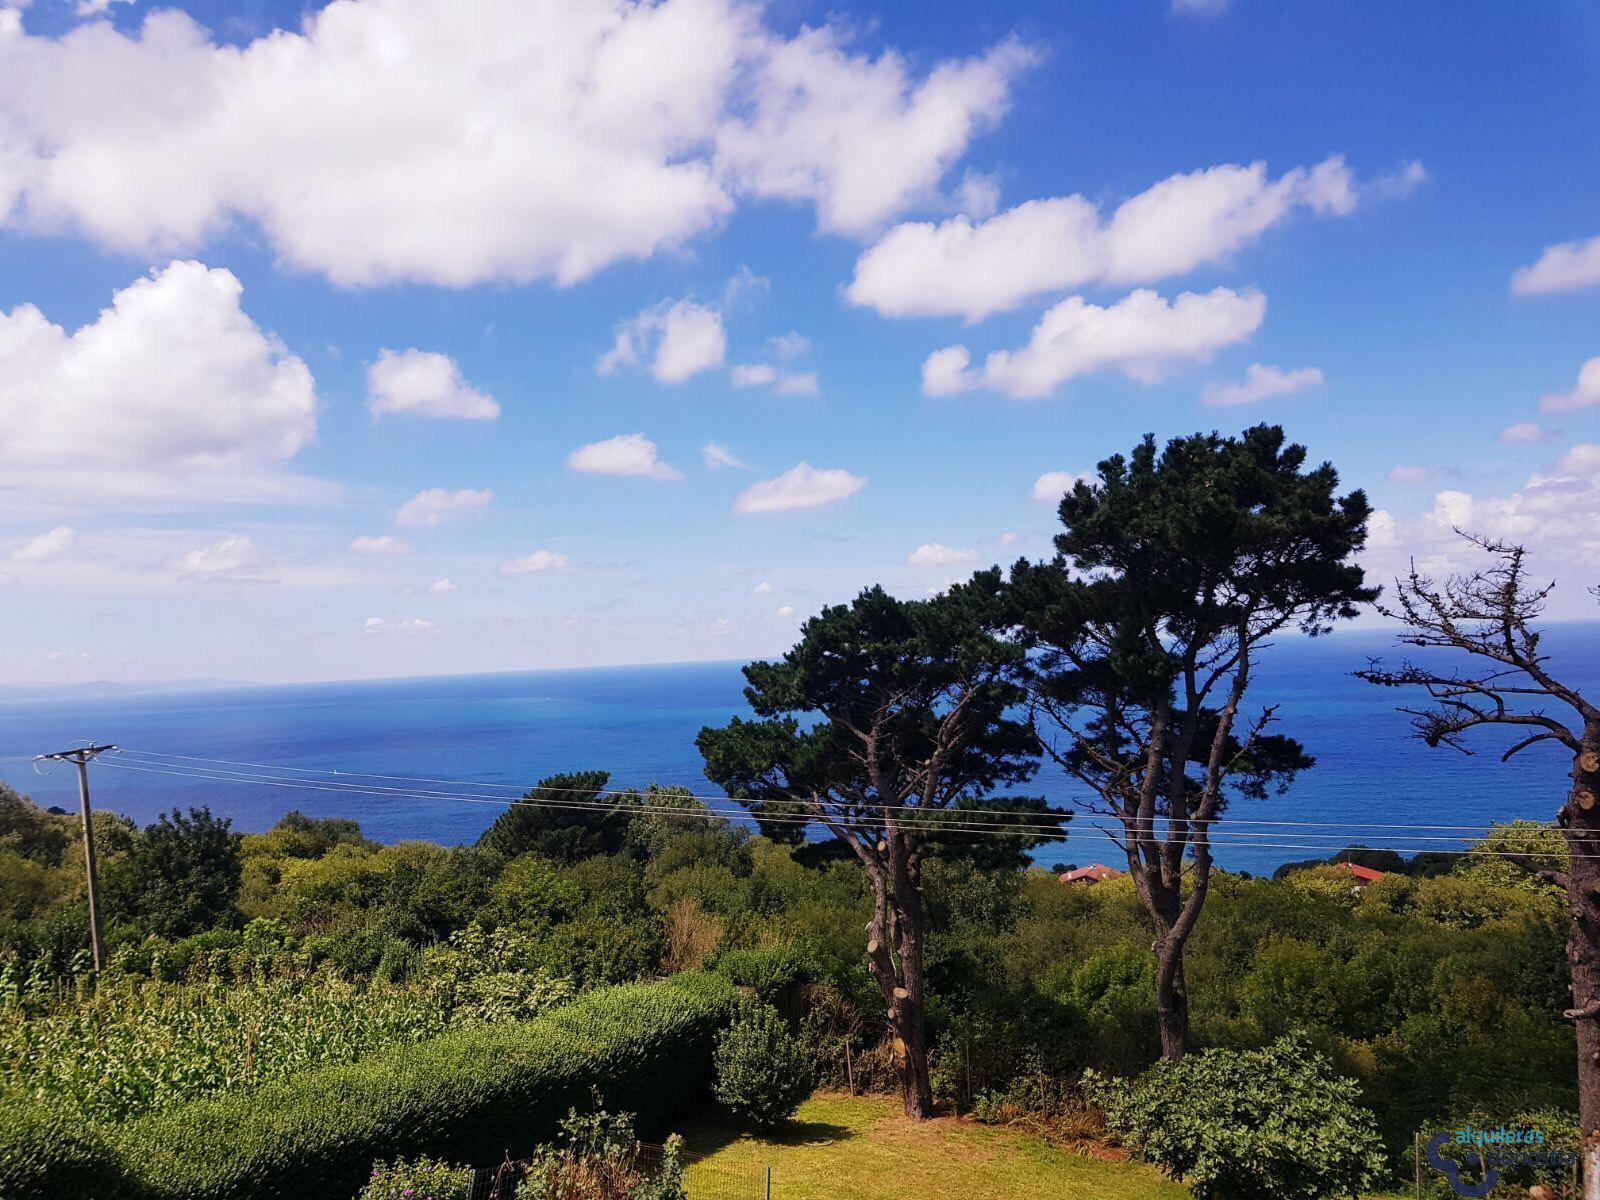
<svg viewBox="0 0 1600 1200"><path fill-rule="evenodd" d="M1432 704L1402 712L1411 715L1416 736L1429 746L1472 754L1467 734L1480 726L1506 726L1515 739L1501 762L1533 747L1558 747L1571 760L1571 784L1555 813L1568 861L1496 853L1566 891L1573 1006L1565 1016L1578 1026L1586 1195L1600 1200L1600 707L1558 678L1541 650L1534 624L1555 584L1530 582L1522 546L1466 533L1462 538L1491 555L1493 565L1443 582L1419 574L1413 565L1397 581L1394 605L1379 605L1384 616L1405 622L1402 645L1454 651L1451 659L1437 666L1408 659L1397 669L1374 659L1357 674L1379 686L1426 691ZM1600 589L1590 590L1600 595Z"/></svg>

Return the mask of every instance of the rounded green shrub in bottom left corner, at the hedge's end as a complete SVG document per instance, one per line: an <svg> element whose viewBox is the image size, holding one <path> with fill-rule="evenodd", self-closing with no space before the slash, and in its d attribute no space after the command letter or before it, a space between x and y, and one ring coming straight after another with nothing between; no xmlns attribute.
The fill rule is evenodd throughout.
<svg viewBox="0 0 1600 1200"><path fill-rule="evenodd" d="M54 1106L0 1104L0 1200L115 1195L122 1186L94 1126Z"/></svg>

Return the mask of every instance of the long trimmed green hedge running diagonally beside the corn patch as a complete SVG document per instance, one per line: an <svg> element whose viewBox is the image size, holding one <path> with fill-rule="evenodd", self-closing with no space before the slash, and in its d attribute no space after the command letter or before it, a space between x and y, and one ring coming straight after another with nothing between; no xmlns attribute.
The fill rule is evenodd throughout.
<svg viewBox="0 0 1600 1200"><path fill-rule="evenodd" d="M40 1160L37 1149L37 1173L11 1182L8 1157L34 1144L14 1146L6 1130L0 1200L347 1197L366 1182L374 1158L426 1154L493 1165L507 1150L526 1154L568 1109L587 1106L595 1088L610 1109L659 1126L709 1096L717 1032L734 1010L725 979L680 974L608 987L534 1021L462 1029L181 1104L107 1128L123 1178L101 1176L91 1190L37 1190L37 1179L56 1179L70 1165Z"/></svg>

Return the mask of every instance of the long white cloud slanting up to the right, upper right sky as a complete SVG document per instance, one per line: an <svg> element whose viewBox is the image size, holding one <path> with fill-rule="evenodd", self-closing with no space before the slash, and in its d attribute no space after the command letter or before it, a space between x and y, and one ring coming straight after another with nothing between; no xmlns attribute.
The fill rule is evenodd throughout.
<svg viewBox="0 0 1600 1200"><path fill-rule="evenodd" d="M1339 157L1278 179L1266 163L1174 174L1106 218L1082 195L1029 200L987 221L891 229L856 261L851 304L885 317L970 323L1032 296L1091 283L1154 283L1218 262L1299 210L1344 216L1357 187Z"/></svg>

